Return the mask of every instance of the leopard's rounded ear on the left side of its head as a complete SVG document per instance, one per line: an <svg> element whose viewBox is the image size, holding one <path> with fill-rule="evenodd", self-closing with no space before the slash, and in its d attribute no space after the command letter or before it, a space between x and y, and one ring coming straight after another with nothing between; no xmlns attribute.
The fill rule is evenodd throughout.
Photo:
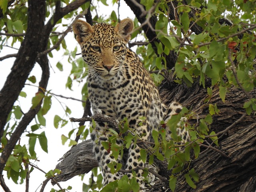
<svg viewBox="0 0 256 192"><path fill-rule="evenodd" d="M92 26L80 19L73 24L72 28L79 44L85 41L93 32Z"/></svg>

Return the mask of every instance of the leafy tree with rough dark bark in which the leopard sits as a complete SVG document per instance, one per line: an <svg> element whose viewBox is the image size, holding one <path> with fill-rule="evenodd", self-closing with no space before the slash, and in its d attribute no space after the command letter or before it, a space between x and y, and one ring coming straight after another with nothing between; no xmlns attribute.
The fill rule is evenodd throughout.
<svg viewBox="0 0 256 192"><path fill-rule="evenodd" d="M107 3L104 0L101 2L105 5ZM182 115L186 116L191 142L175 148L174 142L178 138L173 134L172 145L171 142L155 141L154 148L163 148L164 156L158 150L150 150L147 154L151 160L162 166L160 174L154 173L159 182L165 188L170 187L169 190L172 191L192 191L194 188L197 191L255 191L255 2L124 2L136 16L136 30L129 46L138 46L136 51L159 85L163 102L177 100L186 107L168 123L177 124ZM124 2L118 1L119 4ZM1 61L10 57L16 58L0 91L0 183L6 192L10 190L2 177L3 171L14 182L19 178L29 181L28 170L34 166L30 161L37 158L34 151L36 140L47 151L47 138L44 132L38 134L38 131L44 129L44 115L51 108L53 93L47 90L50 76L48 57L53 57L51 51L60 50L62 47L69 55L72 75L68 76L66 86L71 89L72 81L86 75L86 64L77 54L77 50L70 51L66 46L65 36L71 31L72 23L80 17L84 17L90 24L116 24L119 20L119 14L114 11L106 19L97 12L94 14L94 10L97 10L95 4L96 2L90 0L0 1L0 48L4 49L10 41L11 46L20 43L17 54L0 58ZM70 25L62 24L64 19L71 19ZM59 26L66 27L64 32L57 30ZM138 42L136 37L140 33L144 41ZM19 97L30 94L23 92L22 88L28 86L26 81L34 82L30 72L35 63L40 65L42 76L38 92L32 98L31 108L23 112L15 102ZM60 62L56 65L62 70ZM82 100L86 101L83 102L84 119L71 119L81 122L76 130L77 138L71 140L69 134L69 137L62 137L62 142L70 140L71 144L76 145L80 137L86 138L89 128L84 126L85 120L92 121L93 118L96 121L113 123L111 118L103 119L100 114L90 114L86 86L82 91ZM66 108L66 113L71 113L69 108ZM92 118L88 118L88 115ZM34 125L29 126L30 122L34 122ZM55 116L55 127L65 126L66 123L64 118ZM74 130L70 132L72 134ZM29 137L28 147L17 143L22 134ZM157 137L160 133L154 134ZM96 167L96 161L92 158L90 161L82 158L84 155L92 155L88 142L87 140L74 146L65 154L62 162L57 165L58 169L47 173L46 182L50 179L53 183L64 181ZM149 147L152 148L143 143L138 145L142 148L141 153ZM72 162L78 158L84 166ZM93 169L93 174L98 181L91 181L90 186L84 186L84 190L101 186L102 177L96 168ZM134 187L125 178L118 186L126 190ZM156 184L152 189L161 188ZM44 186L41 191L43 190ZM61 187L60 190L64 191Z"/></svg>

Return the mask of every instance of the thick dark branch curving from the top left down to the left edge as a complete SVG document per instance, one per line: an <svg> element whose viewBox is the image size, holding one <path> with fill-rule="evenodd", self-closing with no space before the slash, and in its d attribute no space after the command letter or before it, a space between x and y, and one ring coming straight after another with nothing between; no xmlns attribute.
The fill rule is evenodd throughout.
<svg viewBox="0 0 256 192"><path fill-rule="evenodd" d="M0 138L2 138L7 116L24 87L25 81L35 64L36 55L40 51L41 44L38 41L42 38L46 12L45 6L44 0L28 1L28 29L18 51L12 71L0 91Z"/></svg>

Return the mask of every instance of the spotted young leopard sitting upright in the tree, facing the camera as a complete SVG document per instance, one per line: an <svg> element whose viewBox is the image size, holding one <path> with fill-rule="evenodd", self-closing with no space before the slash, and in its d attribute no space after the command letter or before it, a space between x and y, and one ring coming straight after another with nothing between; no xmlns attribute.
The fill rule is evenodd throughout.
<svg viewBox="0 0 256 192"><path fill-rule="evenodd" d="M119 122L126 119L130 130L144 142L152 142L152 130L160 130L160 122L167 122L172 115L179 113L182 106L171 102L168 106L160 99L159 91L148 70L144 68L139 56L127 47L134 30L134 22L125 18L116 26L99 23L90 25L84 20L77 20L72 26L76 41L81 47L82 58L88 64L87 88L92 112L101 112ZM101 167L104 183L120 180L124 174L131 179L131 173L116 172L112 174L108 164L122 164L125 170L138 166L154 168L140 158L140 148L134 142L114 158L111 150L104 148L102 142L108 142L113 136L111 126L95 122L90 133L95 158ZM168 130L168 128L166 128ZM182 140L188 140L185 129L177 129ZM166 131L166 139L171 138L170 130ZM117 138L116 146L124 147L123 139ZM124 160L124 156L126 159ZM136 180L141 188L145 187L143 171L137 169ZM148 182L153 182L155 176L148 174Z"/></svg>

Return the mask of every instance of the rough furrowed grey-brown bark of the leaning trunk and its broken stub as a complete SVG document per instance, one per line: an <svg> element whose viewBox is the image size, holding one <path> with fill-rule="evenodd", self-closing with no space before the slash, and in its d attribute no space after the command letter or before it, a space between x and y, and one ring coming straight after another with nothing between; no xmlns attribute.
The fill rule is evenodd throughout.
<svg viewBox="0 0 256 192"><path fill-rule="evenodd" d="M207 83L206 83L207 84ZM250 92L255 95L256 89ZM213 89L212 98L208 103L204 100L208 97L207 88L203 88L197 82L192 87L186 84L170 83L168 80L164 81L160 86L160 95L165 103L176 100L191 109L195 113L190 124L196 123L201 118L204 118L208 113L209 104L217 104L220 113L213 116L213 123L211 130L216 133L225 130L228 126L234 124L242 114L244 109L243 103L248 100L242 91L235 87L229 89L226 95L225 102L219 97L218 88ZM67 154L62 157L60 164L56 168L62 169L60 176L56 180L64 181L72 178L76 173L88 172L89 168L97 166L96 163L88 164L86 156L93 157L88 141L78 144L72 148ZM210 142L210 140L209 140ZM84 147L84 146L88 147ZM141 146L145 148L146 146ZM248 187L255 189L254 182L248 182L256 175L256 119L255 116L245 116L240 122L232 126L232 128L223 134L219 140L219 147L213 146L220 150L225 156L212 148L201 148L201 154L196 160L190 162L189 168L194 168L200 176L200 181L196 183L196 191L227 191L233 192L235 189L244 191ZM86 150L86 151L85 151ZM205 151L204 151L205 150ZM72 154L72 155L71 155ZM67 158L72 156L72 158ZM83 166L86 169L81 170L80 164L84 159ZM70 161L71 160L71 161ZM78 162L78 163L76 163ZM90 163L90 162L89 162ZM162 168L160 175L168 178L170 172L166 169L166 162L158 162ZM72 165L72 167L70 167ZM68 173L72 172L71 175ZM194 191L188 184L183 174L177 176L177 191ZM244 184L244 186L241 186ZM251 186L250 186L251 185ZM240 187L241 186L241 187ZM241 188L241 190L240 190ZM159 188L158 191L162 189ZM156 189L154 189L156 191Z"/></svg>

